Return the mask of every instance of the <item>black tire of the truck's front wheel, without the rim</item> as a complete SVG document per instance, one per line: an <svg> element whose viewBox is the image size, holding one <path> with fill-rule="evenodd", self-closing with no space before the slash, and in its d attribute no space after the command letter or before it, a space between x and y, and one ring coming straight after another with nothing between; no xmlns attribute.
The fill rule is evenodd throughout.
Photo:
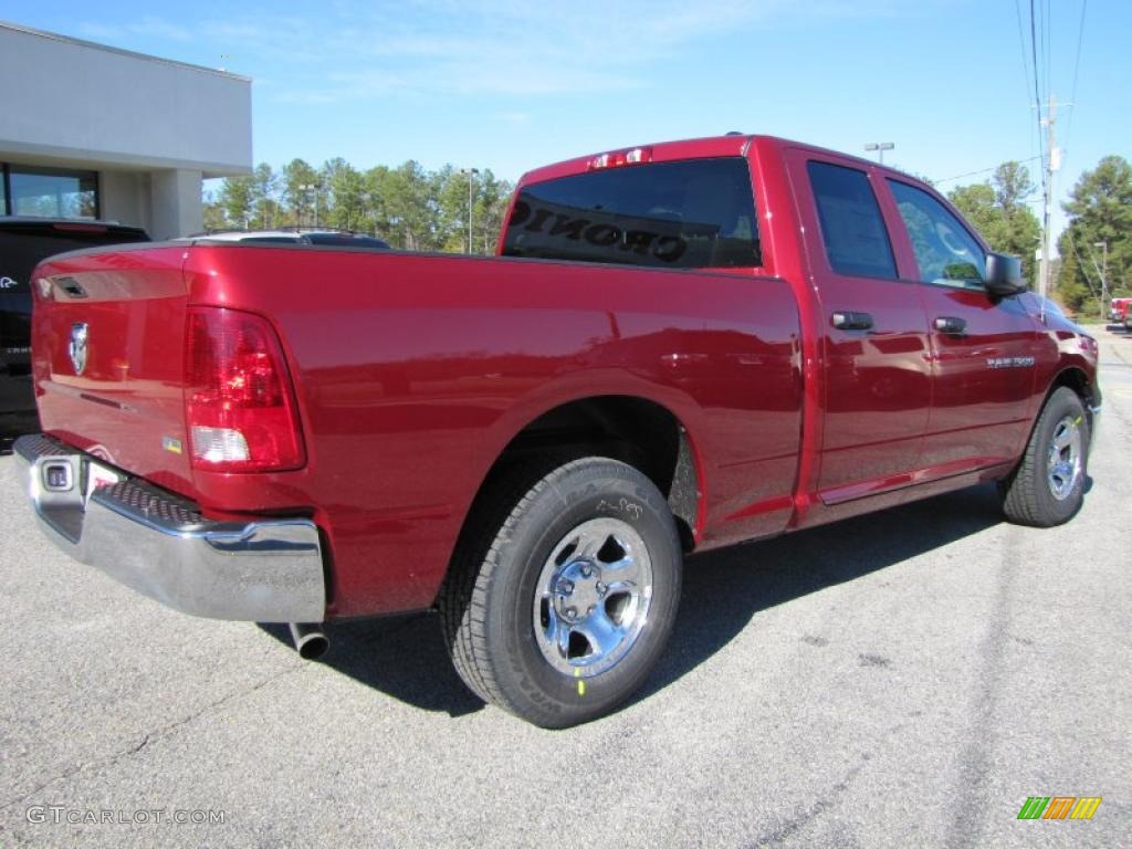
<svg viewBox="0 0 1132 849"><path fill-rule="evenodd" d="M1050 481L1049 457L1054 439L1071 423L1080 435L1077 452L1080 468L1071 486L1058 492ZM1084 500L1084 481L1089 456L1089 420L1077 393L1061 386L1046 398L1038 421L1030 434L1018 468L1000 483L1002 507L1006 517L1017 524L1052 528L1067 522ZM1064 475L1060 480L1069 480Z"/></svg>

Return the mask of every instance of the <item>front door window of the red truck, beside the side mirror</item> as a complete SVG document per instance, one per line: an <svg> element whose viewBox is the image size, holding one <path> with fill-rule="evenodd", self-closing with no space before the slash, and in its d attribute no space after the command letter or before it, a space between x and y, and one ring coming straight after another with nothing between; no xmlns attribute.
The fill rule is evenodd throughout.
<svg viewBox="0 0 1132 849"><path fill-rule="evenodd" d="M986 256L959 218L921 189L889 180L908 228L920 280L949 286L981 288Z"/></svg>

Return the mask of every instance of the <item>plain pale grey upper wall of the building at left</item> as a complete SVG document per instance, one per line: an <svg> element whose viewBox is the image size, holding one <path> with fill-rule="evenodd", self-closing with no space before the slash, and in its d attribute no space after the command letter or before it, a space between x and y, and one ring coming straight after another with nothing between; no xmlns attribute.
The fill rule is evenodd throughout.
<svg viewBox="0 0 1132 849"><path fill-rule="evenodd" d="M0 158L251 173L248 77L0 22Z"/></svg>

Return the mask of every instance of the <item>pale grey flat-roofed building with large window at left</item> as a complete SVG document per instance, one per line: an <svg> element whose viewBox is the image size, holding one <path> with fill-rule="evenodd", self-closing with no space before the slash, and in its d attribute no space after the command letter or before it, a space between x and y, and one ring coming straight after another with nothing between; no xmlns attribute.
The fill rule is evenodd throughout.
<svg viewBox="0 0 1132 849"><path fill-rule="evenodd" d="M0 22L0 214L198 232L201 180L251 172L251 80Z"/></svg>

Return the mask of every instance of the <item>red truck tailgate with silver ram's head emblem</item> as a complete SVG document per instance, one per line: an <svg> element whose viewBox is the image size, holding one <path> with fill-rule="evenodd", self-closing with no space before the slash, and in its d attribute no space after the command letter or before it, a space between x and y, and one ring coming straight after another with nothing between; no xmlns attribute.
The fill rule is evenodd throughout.
<svg viewBox="0 0 1132 849"><path fill-rule="evenodd" d="M45 432L189 492L183 257L166 246L44 261L32 358Z"/></svg>

